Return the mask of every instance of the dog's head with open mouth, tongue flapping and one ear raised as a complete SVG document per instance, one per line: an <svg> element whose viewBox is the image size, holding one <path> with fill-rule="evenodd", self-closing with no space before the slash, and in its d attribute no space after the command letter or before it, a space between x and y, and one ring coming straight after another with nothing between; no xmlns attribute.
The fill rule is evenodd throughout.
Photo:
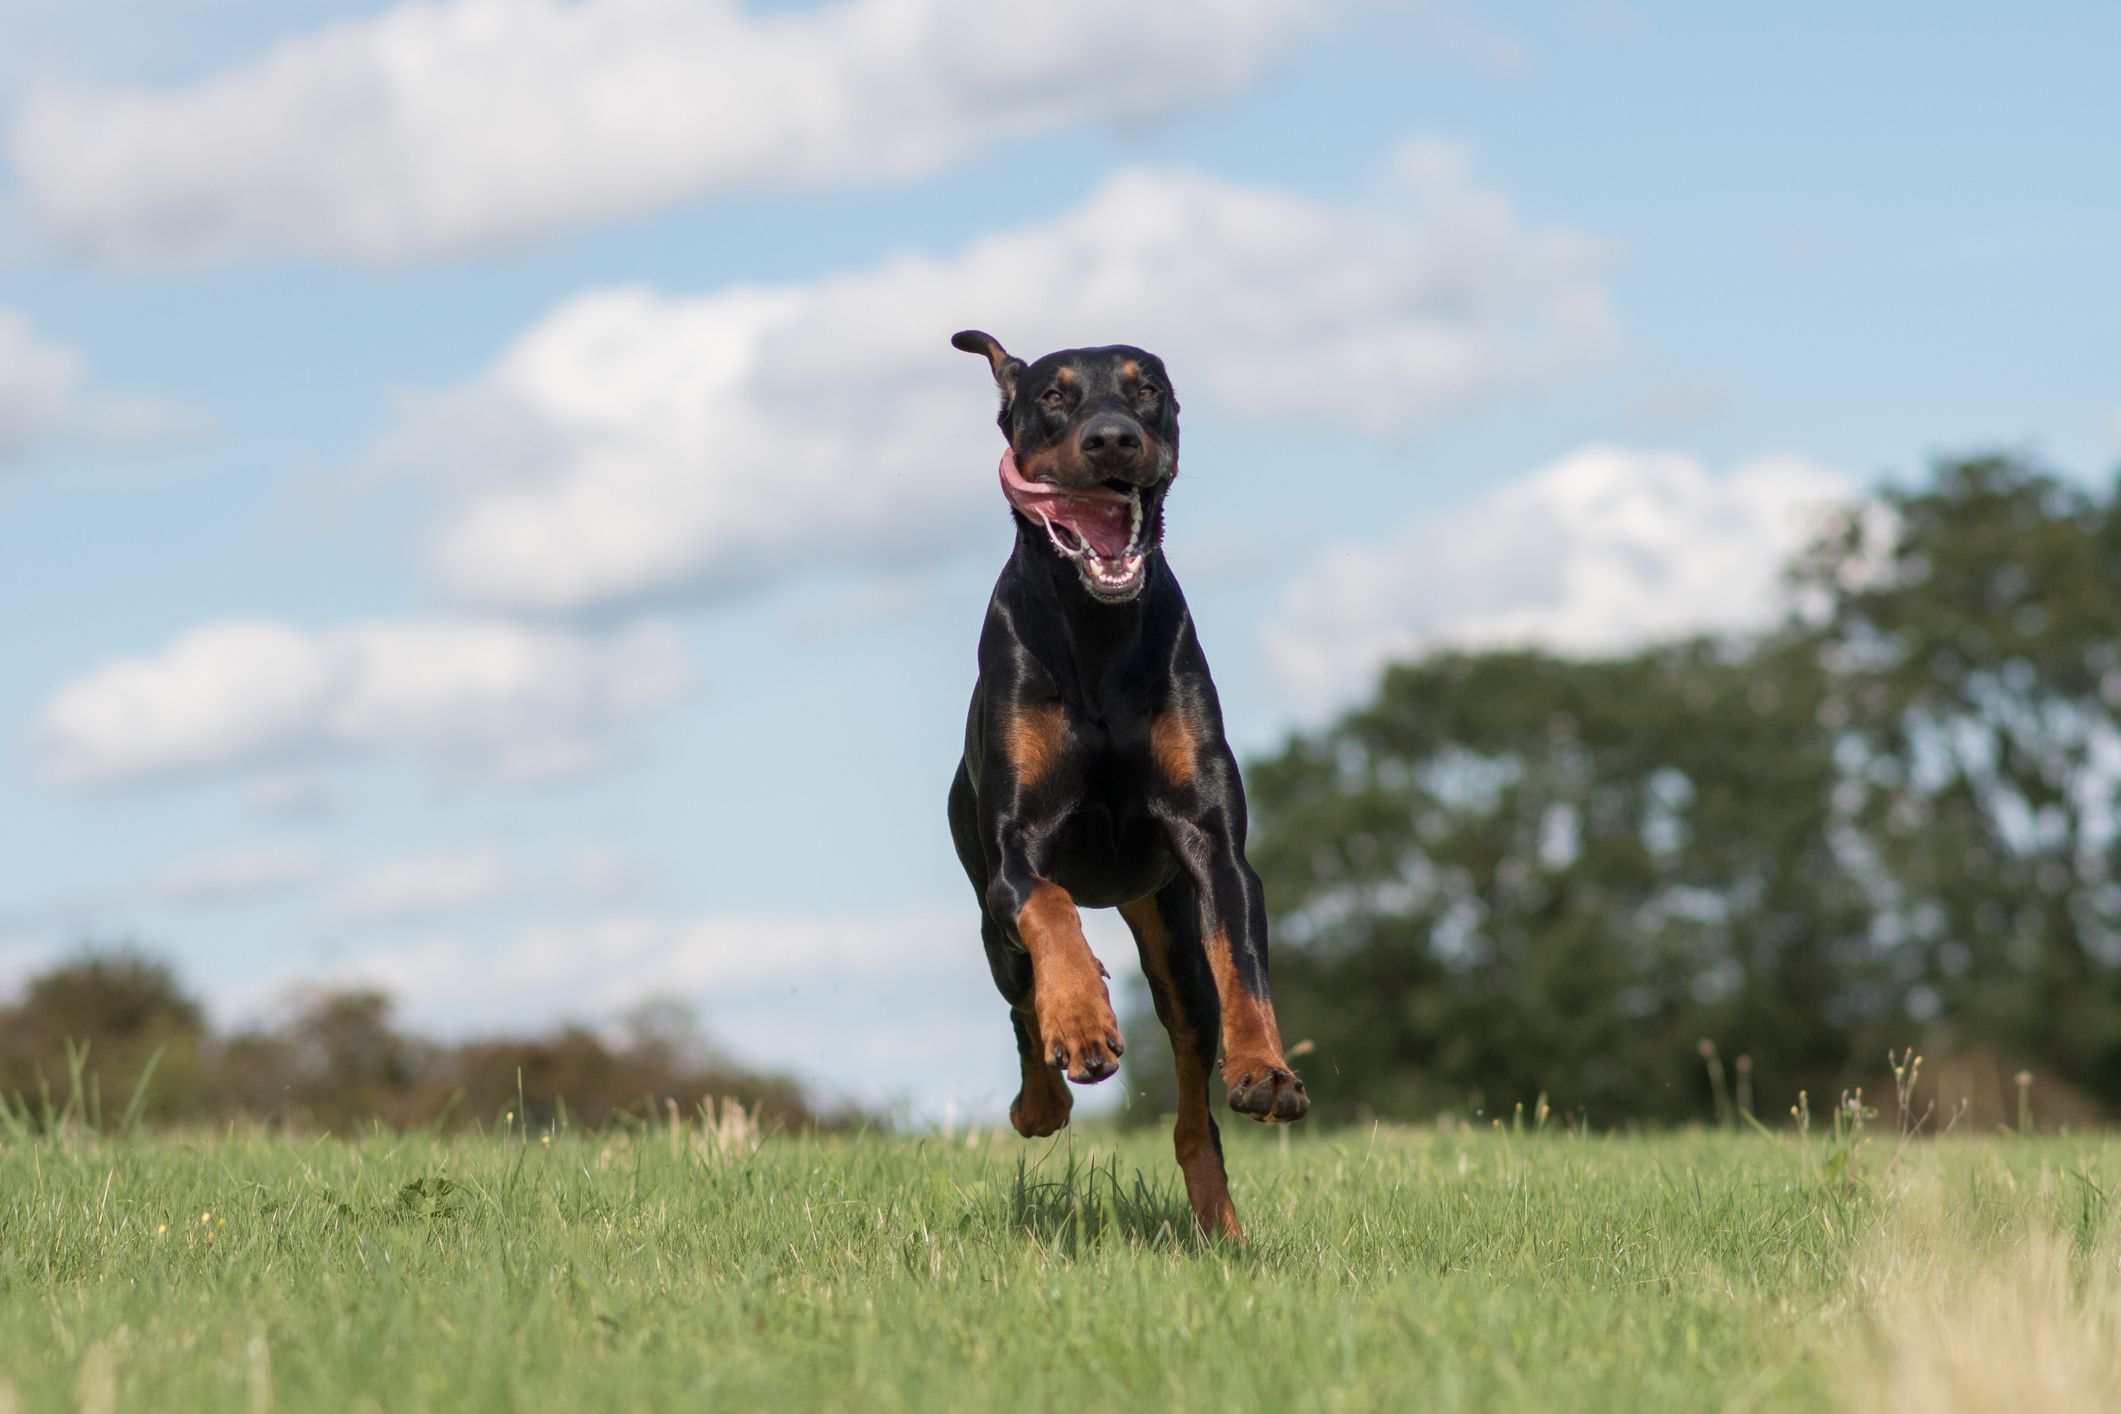
<svg viewBox="0 0 2121 1414"><path fill-rule="evenodd" d="M1179 401L1162 358L1114 343L1024 363L978 329L950 343L995 371L1010 439L1001 488L1016 513L1075 562L1092 596L1124 604L1141 594L1179 469Z"/></svg>

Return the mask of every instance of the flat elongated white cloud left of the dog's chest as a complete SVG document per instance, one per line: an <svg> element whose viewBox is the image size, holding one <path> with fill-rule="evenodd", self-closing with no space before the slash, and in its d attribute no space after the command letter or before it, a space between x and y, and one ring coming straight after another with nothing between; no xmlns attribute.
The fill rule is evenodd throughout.
<svg viewBox="0 0 2121 1414"><path fill-rule="evenodd" d="M456 776L537 776L600 759L611 729L670 702L677 636L592 638L490 619L308 632L223 619L161 653L59 687L36 736L51 774L104 784L367 750Z"/></svg>

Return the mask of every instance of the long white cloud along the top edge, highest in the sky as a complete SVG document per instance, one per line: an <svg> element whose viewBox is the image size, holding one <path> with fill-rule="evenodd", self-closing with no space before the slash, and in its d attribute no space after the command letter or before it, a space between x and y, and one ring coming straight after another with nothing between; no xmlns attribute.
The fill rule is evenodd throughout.
<svg viewBox="0 0 2121 1414"><path fill-rule="evenodd" d="M416 261L721 191L889 182L1245 87L1315 0L397 4L170 93L45 89L11 138L102 259Z"/></svg>

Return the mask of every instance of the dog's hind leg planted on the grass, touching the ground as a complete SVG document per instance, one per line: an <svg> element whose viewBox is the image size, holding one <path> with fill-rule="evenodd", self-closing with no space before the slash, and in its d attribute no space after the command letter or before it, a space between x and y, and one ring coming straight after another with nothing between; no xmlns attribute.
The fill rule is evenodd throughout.
<svg viewBox="0 0 2121 1414"><path fill-rule="evenodd" d="M1230 1179L1222 1164L1222 1132L1209 1107L1209 1077L1222 1037L1222 1003L1215 975L1200 950L1200 901L1184 873L1147 899L1120 905L1135 931L1141 971L1150 979L1156 1020L1171 1032L1171 1064L1177 1073L1179 1117L1171 1130L1186 1174L1186 1198L1194 1221L1209 1236L1243 1240L1230 1202Z"/></svg>

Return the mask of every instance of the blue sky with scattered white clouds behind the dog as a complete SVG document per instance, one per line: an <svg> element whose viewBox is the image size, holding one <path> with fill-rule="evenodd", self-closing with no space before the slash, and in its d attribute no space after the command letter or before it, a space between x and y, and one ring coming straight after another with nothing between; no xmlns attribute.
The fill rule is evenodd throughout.
<svg viewBox="0 0 2121 1414"><path fill-rule="evenodd" d="M1807 526L1939 456L2121 460L2113 6L0 34L0 994L123 939L229 1026L679 998L999 1115L942 806L1012 530L957 329L1167 360L1243 750L1436 644L1771 621Z"/></svg>

